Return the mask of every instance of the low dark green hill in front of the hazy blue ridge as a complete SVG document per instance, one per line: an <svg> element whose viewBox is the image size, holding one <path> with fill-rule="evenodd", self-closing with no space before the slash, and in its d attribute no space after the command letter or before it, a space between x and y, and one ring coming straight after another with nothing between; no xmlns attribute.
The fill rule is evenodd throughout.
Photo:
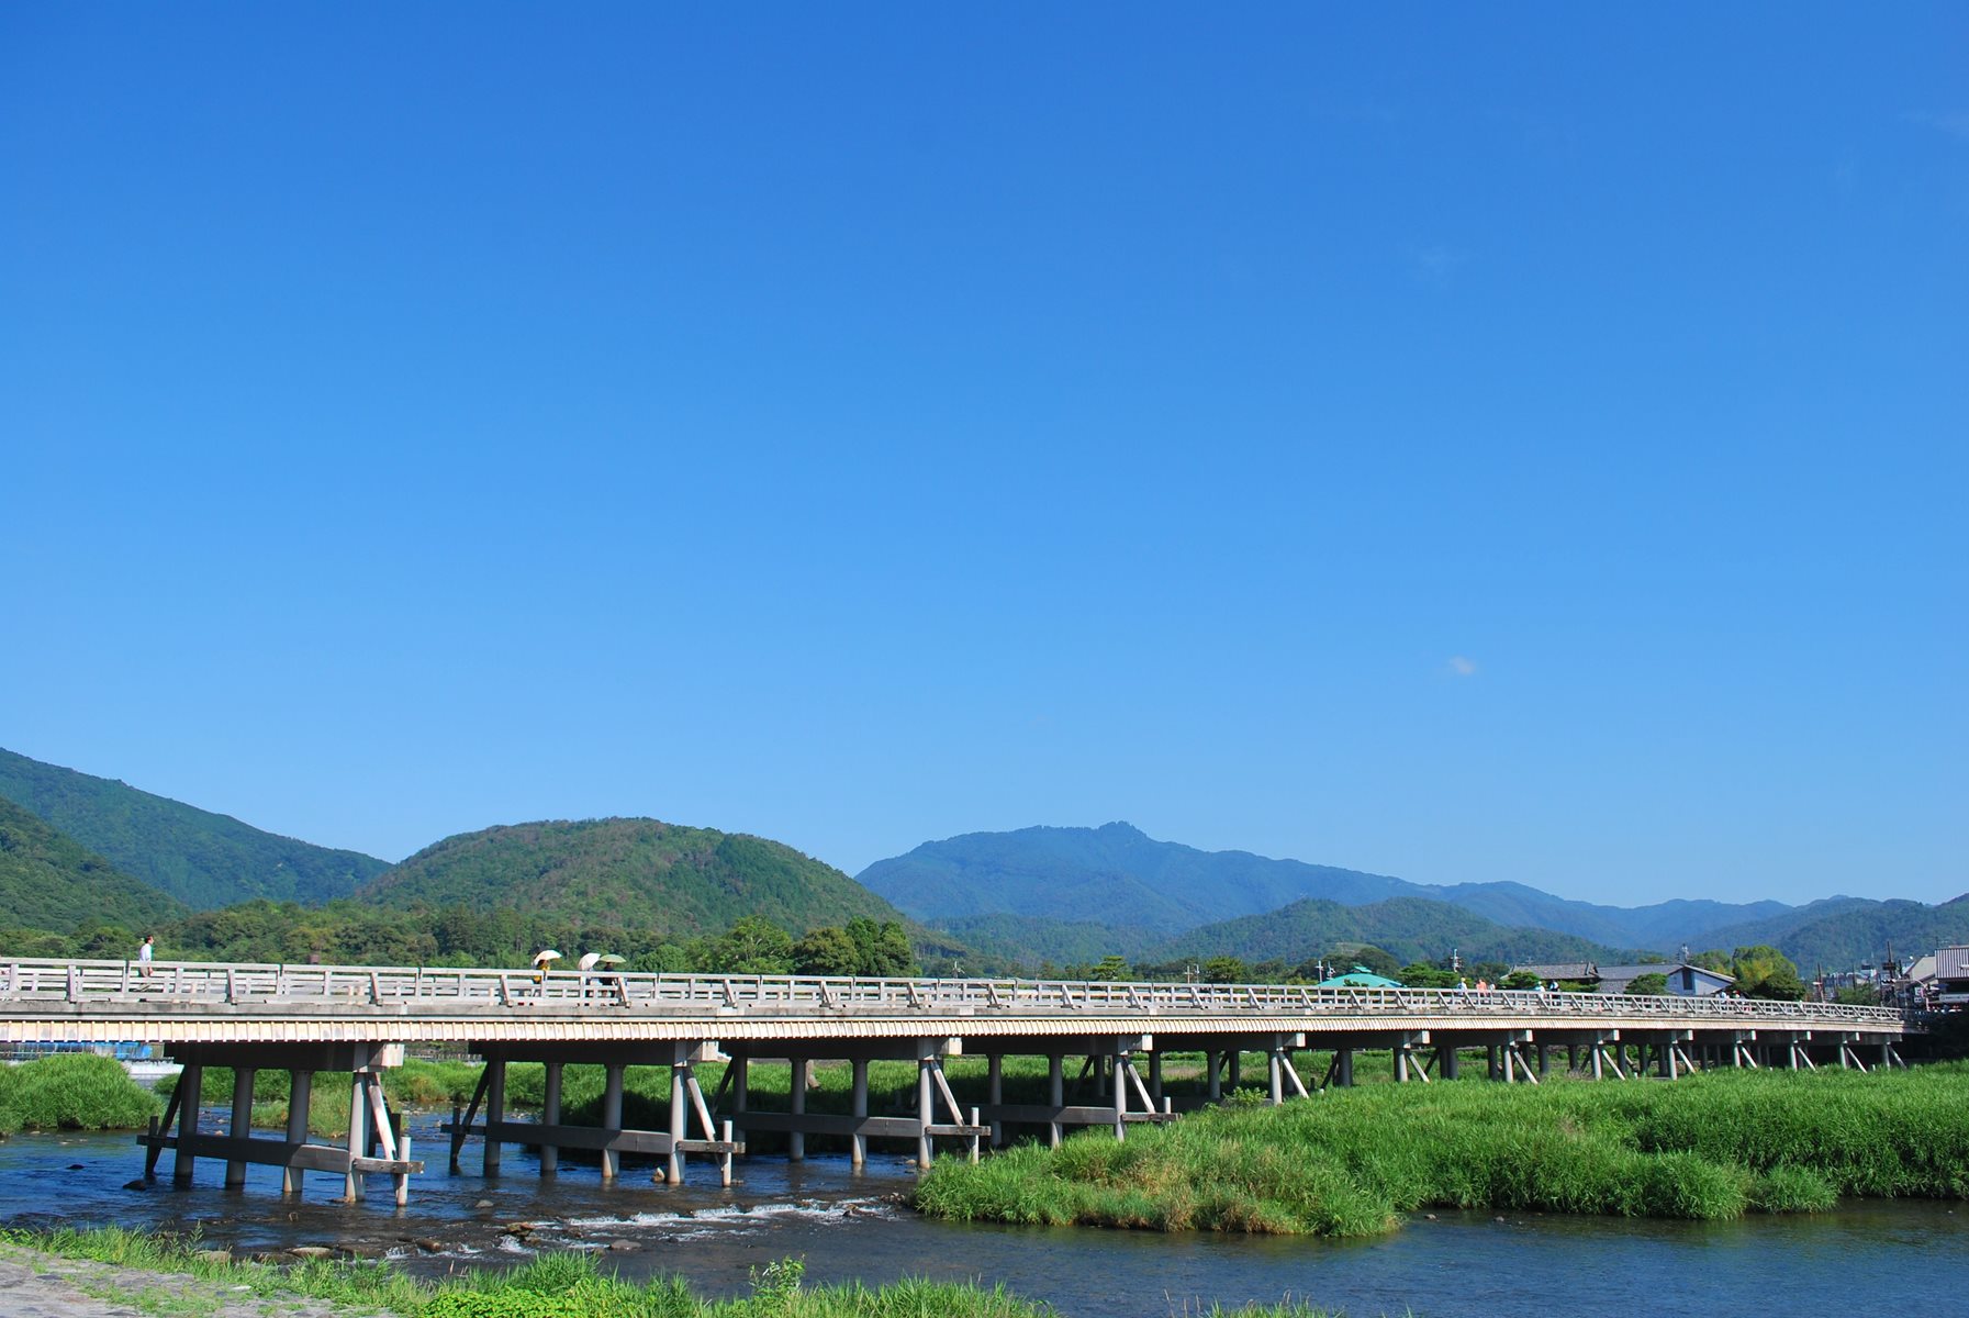
<svg viewBox="0 0 1969 1318"><path fill-rule="evenodd" d="M1459 952L1465 961L1620 961L1626 954L1573 934L1508 928L1483 916L1416 896L1343 906L1292 902L1262 916L1205 924L1150 950L1146 961L1235 956L1288 965L1327 954L1335 944L1374 944L1396 961L1437 961Z"/></svg>

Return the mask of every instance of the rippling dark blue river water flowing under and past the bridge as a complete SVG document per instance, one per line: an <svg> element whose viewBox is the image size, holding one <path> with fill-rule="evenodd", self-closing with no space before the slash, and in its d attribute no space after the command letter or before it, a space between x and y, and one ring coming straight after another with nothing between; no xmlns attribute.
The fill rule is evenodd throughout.
<svg viewBox="0 0 1969 1318"><path fill-rule="evenodd" d="M341 1178L311 1174L299 1200L284 1200L276 1168L248 1168L244 1192L224 1190L222 1164L203 1158L195 1184L177 1190L171 1154L152 1188L128 1190L144 1170L130 1135L16 1135L0 1143L0 1221L197 1229L236 1251L331 1245L421 1275L620 1241L634 1245L608 1249L620 1273L681 1273L707 1294L742 1294L748 1269L792 1255L809 1283L1004 1283L1065 1318L1164 1318L1286 1296L1355 1318L1947 1312L1945 1296L1969 1294L1969 1204L1857 1202L1725 1223L1437 1214L1370 1241L953 1225L902 1204L914 1172L900 1156L870 1154L860 1174L845 1156L750 1158L730 1188L699 1162L669 1188L634 1162L614 1186L565 1160L543 1180L534 1156L508 1147L504 1174L486 1180L476 1141L465 1174L445 1172L437 1121L410 1119L431 1170L412 1178L404 1212L388 1178L372 1178L368 1200L350 1208L331 1202ZM211 1111L201 1125L222 1121Z"/></svg>

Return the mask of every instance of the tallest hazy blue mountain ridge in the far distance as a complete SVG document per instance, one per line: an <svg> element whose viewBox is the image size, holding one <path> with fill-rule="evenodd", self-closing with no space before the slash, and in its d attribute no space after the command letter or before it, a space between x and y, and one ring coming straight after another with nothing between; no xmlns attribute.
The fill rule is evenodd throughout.
<svg viewBox="0 0 1969 1318"><path fill-rule="evenodd" d="M1365 906L1412 896L1459 906L1500 926L1536 926L1609 948L1674 952L1680 944L1717 946L1719 930L1750 920L1796 916L1804 922L1817 914L1768 900L1672 900L1628 908L1567 900L1522 883L1435 887L1248 851L1197 851L1156 841L1128 824L965 833L876 861L860 881L918 920L947 930L986 914L1112 924L1126 912L1130 926L1174 936L1305 898ZM1855 900L1829 898L1825 906Z"/></svg>

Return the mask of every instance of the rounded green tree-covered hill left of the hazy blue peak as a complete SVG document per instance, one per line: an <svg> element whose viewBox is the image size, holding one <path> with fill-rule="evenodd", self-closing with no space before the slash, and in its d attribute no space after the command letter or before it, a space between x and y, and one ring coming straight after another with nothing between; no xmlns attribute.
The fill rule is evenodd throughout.
<svg viewBox="0 0 1969 1318"><path fill-rule="evenodd" d="M516 908L693 938L764 916L795 934L894 906L792 847L658 820L553 820L461 833L368 883L382 906Z"/></svg>

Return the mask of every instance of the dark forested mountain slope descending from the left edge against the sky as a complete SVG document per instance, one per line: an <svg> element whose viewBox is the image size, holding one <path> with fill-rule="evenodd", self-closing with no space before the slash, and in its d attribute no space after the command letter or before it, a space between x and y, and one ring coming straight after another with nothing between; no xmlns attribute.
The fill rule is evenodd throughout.
<svg viewBox="0 0 1969 1318"><path fill-rule="evenodd" d="M193 908L252 898L327 902L388 865L0 751L0 798Z"/></svg>

